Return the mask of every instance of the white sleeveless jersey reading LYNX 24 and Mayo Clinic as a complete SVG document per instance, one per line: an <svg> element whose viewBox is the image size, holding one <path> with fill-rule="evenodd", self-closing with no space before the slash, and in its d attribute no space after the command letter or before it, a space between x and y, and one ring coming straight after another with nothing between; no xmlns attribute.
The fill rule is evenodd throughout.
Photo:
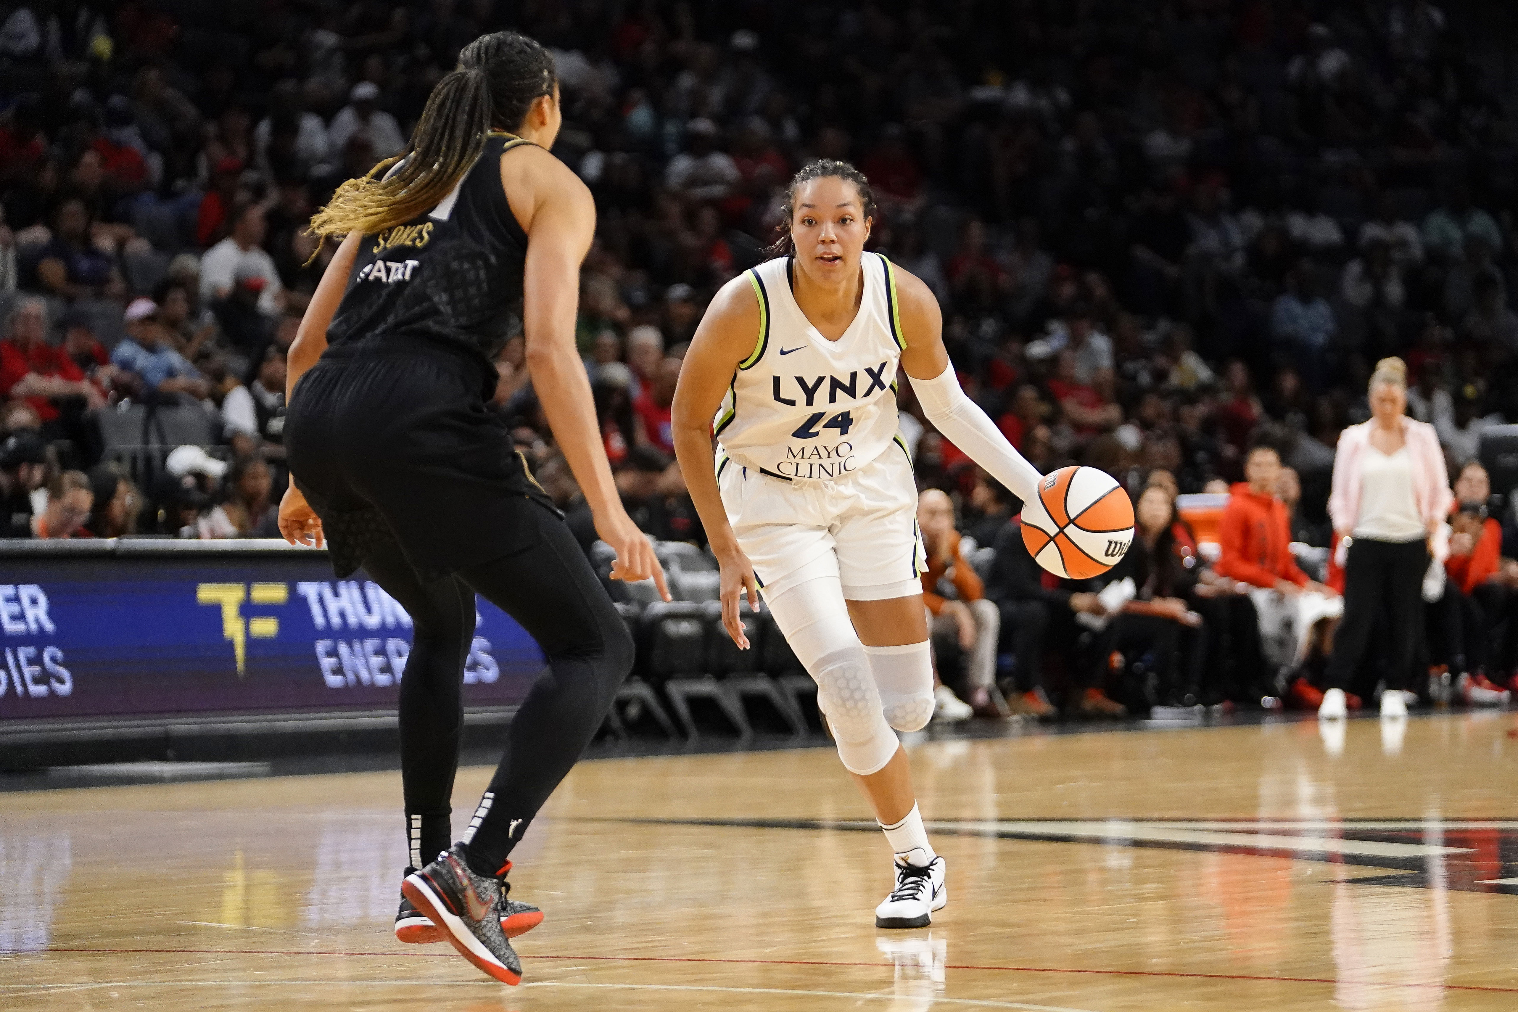
<svg viewBox="0 0 1518 1012"><path fill-rule="evenodd" d="M836 341L795 303L789 256L745 272L759 296L759 335L716 413L718 470L732 458L786 481L835 481L890 448L905 347L896 276L877 253L864 253L859 267L859 314Z"/></svg>

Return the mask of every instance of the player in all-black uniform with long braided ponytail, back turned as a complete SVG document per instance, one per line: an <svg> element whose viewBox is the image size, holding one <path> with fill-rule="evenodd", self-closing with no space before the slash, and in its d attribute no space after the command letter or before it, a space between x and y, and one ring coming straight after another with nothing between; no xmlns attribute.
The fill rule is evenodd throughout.
<svg viewBox="0 0 1518 1012"><path fill-rule="evenodd" d="M507 935L542 915L505 898L507 856L633 663L610 598L486 407L493 358L518 323L548 423L597 533L616 549L612 577L653 577L668 599L612 482L575 352L595 205L548 153L559 126L548 52L512 32L481 36L433 90L405 155L343 184L316 214L314 232L346 238L290 347L284 432L294 482L279 505L288 540L325 537L339 577L363 566L411 614L401 771L413 866L396 933L445 936L513 985L521 963ZM475 593L537 640L548 671L452 844Z"/></svg>

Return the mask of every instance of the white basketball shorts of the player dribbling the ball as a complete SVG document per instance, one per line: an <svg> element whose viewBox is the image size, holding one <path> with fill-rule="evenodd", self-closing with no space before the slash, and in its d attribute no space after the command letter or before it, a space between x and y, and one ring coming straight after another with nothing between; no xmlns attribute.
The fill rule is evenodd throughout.
<svg viewBox="0 0 1518 1012"><path fill-rule="evenodd" d="M899 443L836 481L786 481L736 460L718 469L727 520L767 598L826 575L849 601L923 592L917 482Z"/></svg>

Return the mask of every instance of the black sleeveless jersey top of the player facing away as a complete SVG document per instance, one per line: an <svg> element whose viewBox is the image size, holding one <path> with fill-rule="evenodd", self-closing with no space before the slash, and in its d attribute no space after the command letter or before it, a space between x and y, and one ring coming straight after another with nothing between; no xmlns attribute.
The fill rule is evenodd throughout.
<svg viewBox="0 0 1518 1012"><path fill-rule="evenodd" d="M480 159L427 214L366 235L328 344L416 337L492 363L522 325L527 234L501 188L501 153L530 144L492 130Z"/></svg>

